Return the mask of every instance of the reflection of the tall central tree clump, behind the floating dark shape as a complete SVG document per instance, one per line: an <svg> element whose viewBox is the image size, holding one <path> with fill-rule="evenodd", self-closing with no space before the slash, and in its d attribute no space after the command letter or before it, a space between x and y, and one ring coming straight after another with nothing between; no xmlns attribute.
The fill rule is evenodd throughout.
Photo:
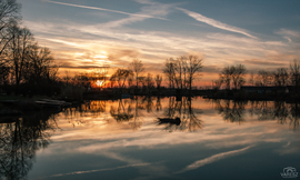
<svg viewBox="0 0 300 180"><path fill-rule="evenodd" d="M198 110L198 113L201 113L201 110ZM169 106L166 110L166 117L172 119L173 122L161 123L161 120L158 121L158 124L164 124L164 129L168 131L197 131L202 129L202 120L200 120L192 108L192 101L188 98L183 98L182 101L176 101L176 97L169 98ZM178 120L180 119L180 123Z"/></svg>

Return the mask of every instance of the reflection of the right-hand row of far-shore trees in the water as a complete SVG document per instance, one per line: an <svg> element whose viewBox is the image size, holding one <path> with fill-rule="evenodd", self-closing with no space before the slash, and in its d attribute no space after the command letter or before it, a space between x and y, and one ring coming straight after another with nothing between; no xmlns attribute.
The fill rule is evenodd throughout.
<svg viewBox="0 0 300 180"><path fill-rule="evenodd" d="M214 109L226 121L244 122L247 112L258 120L277 120L280 124L289 124L290 129L299 130L300 106L283 101L232 101L213 100Z"/></svg>

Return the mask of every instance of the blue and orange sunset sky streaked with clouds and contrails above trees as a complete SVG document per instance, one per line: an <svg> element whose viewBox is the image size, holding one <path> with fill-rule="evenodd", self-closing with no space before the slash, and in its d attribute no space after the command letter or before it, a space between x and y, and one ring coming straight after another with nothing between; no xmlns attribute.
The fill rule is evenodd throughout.
<svg viewBox="0 0 300 180"><path fill-rule="evenodd" d="M169 58L203 59L198 84L227 66L288 68L300 57L299 0L17 0L22 24L50 48L60 73L140 59L162 74Z"/></svg>

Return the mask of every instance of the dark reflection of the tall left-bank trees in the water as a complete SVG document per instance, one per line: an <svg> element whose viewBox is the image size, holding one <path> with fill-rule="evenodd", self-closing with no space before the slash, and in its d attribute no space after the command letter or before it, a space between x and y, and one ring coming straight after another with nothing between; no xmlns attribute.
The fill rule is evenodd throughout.
<svg viewBox="0 0 300 180"><path fill-rule="evenodd" d="M49 144L57 128L56 116L43 111L0 123L0 179L24 179L36 151Z"/></svg>

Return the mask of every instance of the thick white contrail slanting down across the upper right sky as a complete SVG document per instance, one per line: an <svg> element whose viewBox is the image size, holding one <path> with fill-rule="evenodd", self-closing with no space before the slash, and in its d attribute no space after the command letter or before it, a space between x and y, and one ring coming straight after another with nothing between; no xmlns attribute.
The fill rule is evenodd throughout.
<svg viewBox="0 0 300 180"><path fill-rule="evenodd" d="M189 11L187 9L182 9L182 8L177 8L178 10L181 10L182 12L187 13L188 16L192 17L193 19L200 21L200 22L204 22L207 24L210 24L212 27L216 27L216 28L219 28L219 29L222 29L222 30L227 30L227 31L231 31L231 32L237 32L237 33L241 33L241 34L244 34L247 37L250 37L250 38L254 38L257 39L257 37L254 36L251 36L250 33L247 32L247 30L244 29L241 29L241 28L237 28L237 27L232 27L232 26L229 26L229 24L226 24L223 22L220 22L220 21L217 21L214 19L211 19L211 18L208 18L208 17L204 17L200 13L197 13L197 12L192 12L192 11Z"/></svg>

